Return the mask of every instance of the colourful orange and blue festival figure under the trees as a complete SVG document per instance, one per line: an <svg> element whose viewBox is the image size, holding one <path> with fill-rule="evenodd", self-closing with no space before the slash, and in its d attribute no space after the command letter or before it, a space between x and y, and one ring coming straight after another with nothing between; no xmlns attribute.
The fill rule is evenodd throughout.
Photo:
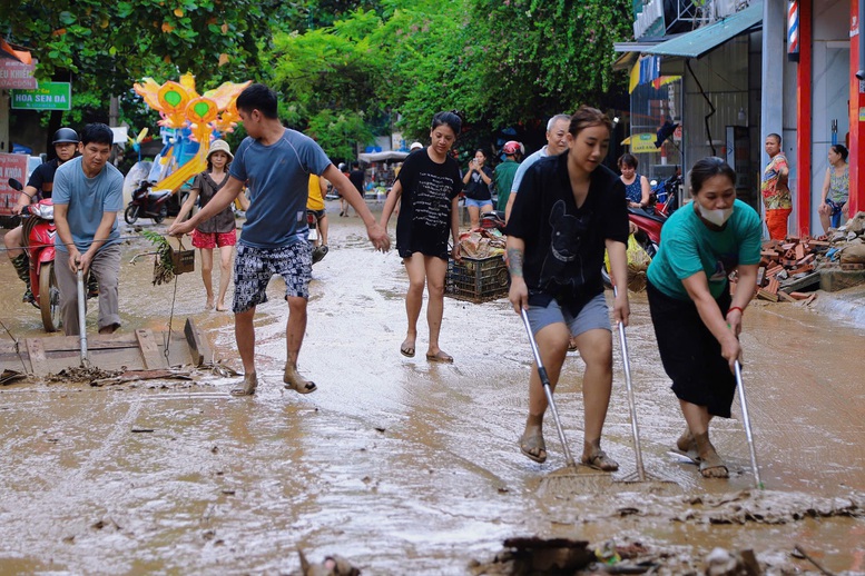
<svg viewBox="0 0 865 576"><path fill-rule="evenodd" d="M134 86L145 103L161 117L158 123L166 146L150 170L149 179L157 180L154 190L176 191L207 167L210 140L234 130L239 119L235 100L250 82L224 82L199 95L195 77L187 72L179 82L158 85L153 78L145 78Z"/></svg>

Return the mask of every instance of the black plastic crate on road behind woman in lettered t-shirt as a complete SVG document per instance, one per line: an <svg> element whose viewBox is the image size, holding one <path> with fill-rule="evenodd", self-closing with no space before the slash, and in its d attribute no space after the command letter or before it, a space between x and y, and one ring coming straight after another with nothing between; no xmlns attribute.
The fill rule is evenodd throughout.
<svg viewBox="0 0 865 576"><path fill-rule="evenodd" d="M444 294L458 300L486 302L508 296L511 277L501 256L448 260Z"/></svg>

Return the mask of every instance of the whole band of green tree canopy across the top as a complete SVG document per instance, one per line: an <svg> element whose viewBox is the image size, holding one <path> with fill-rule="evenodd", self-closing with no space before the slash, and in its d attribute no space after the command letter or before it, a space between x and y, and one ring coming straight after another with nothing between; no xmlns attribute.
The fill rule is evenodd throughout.
<svg viewBox="0 0 865 576"><path fill-rule="evenodd" d="M125 108L139 106L128 95L147 76L265 82L287 123L347 158L392 128L425 138L440 110L460 110L471 140L609 102L623 89L612 42L630 36L630 10L631 0L23 0L0 7L0 31L32 49L40 78L71 78L88 106L124 95Z"/></svg>

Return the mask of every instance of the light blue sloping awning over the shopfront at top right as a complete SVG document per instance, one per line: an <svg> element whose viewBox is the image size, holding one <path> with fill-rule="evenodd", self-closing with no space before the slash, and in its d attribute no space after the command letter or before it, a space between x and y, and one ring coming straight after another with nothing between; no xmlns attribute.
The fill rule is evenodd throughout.
<svg viewBox="0 0 865 576"><path fill-rule="evenodd" d="M642 52L656 56L699 58L737 36L754 31L763 26L763 2L755 2L745 10L692 32L678 36L666 42L646 47Z"/></svg>

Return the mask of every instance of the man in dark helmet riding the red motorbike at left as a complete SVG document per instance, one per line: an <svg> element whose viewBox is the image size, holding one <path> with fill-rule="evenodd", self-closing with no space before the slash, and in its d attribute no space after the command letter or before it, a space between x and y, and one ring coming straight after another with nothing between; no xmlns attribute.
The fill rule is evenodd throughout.
<svg viewBox="0 0 865 576"><path fill-rule="evenodd" d="M57 158L50 162L43 162L33 170L33 173L30 175L30 179L27 181L27 186L24 186L24 189L18 195L18 202L12 207L12 213L21 213L21 209L24 206L38 202L43 198L51 198L55 172L60 165L75 157L75 152L78 149L78 132L71 128L60 128L55 132L51 143L55 146ZM31 302L36 306L33 292L30 288L30 262L27 252L23 249L24 234L22 227L19 226L9 230L6 237L3 237L3 244L7 249L6 254L12 261L12 266L18 272L18 277L27 286L27 291L21 301Z"/></svg>

